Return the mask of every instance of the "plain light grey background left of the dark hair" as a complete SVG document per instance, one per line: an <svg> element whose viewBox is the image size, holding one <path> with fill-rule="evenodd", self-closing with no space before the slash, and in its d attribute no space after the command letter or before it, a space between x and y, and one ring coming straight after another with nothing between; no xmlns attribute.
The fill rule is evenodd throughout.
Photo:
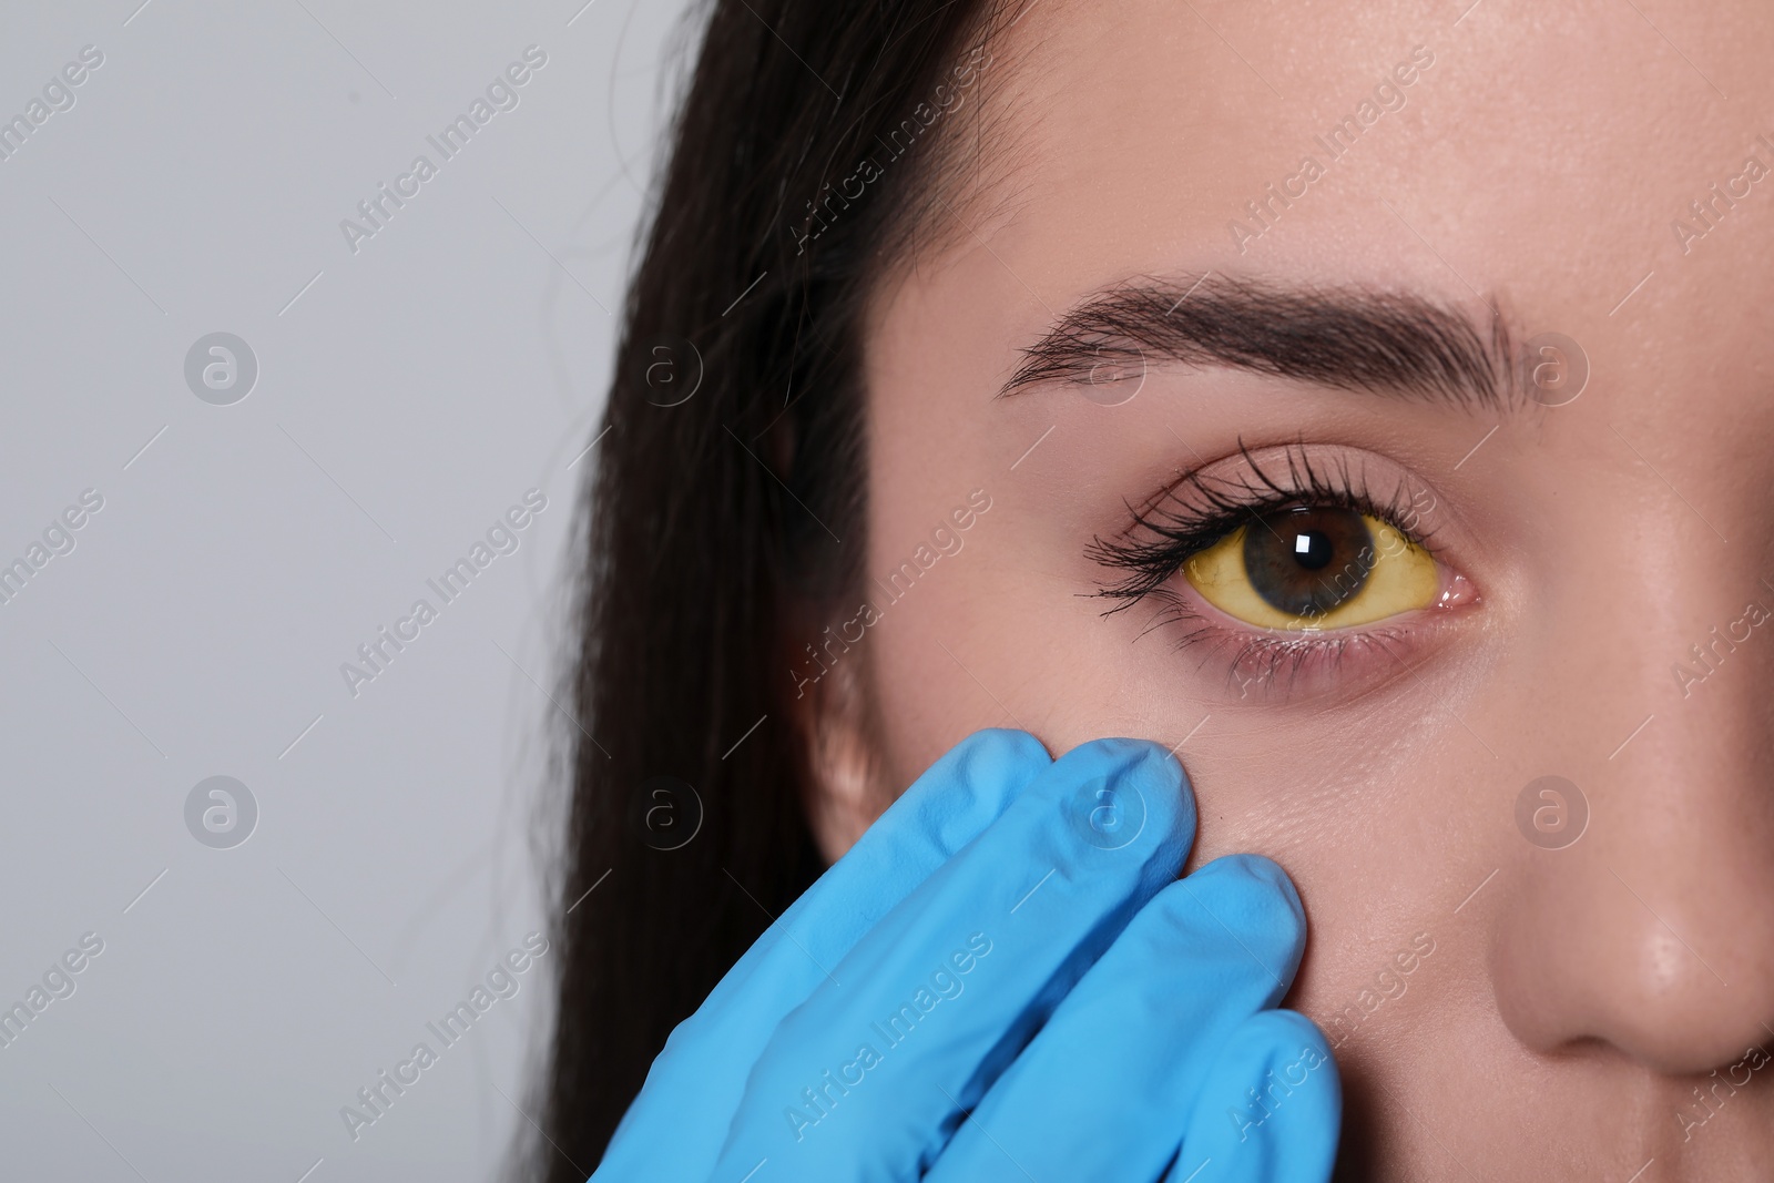
<svg viewBox="0 0 1774 1183"><path fill-rule="evenodd" d="M486 1179L539 968L355 1142L339 1109L539 928L577 458L685 4L137 5L0 9L0 117L105 53L0 161L0 564L105 498L0 605L0 1004L105 942L0 1048L0 1174ZM353 254L341 218L529 44L520 105ZM259 360L232 406L184 381L211 332ZM520 548L353 697L529 488ZM259 805L231 850L184 823L211 775Z"/></svg>

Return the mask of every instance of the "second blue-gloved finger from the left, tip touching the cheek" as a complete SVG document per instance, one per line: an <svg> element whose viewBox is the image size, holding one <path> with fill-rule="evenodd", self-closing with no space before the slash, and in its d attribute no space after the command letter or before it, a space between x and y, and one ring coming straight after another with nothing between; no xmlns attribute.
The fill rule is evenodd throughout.
<svg viewBox="0 0 1774 1183"><path fill-rule="evenodd" d="M1192 839L1162 747L1063 756L782 1020L718 1178L917 1178Z"/></svg>

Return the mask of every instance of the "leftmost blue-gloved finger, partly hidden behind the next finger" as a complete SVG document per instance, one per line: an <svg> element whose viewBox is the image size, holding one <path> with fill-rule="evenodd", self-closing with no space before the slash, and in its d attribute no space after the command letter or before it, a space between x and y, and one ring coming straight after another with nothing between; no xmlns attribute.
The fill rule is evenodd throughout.
<svg viewBox="0 0 1774 1183"><path fill-rule="evenodd" d="M1052 763L1029 733L992 729L962 740L931 764L672 1030L598 1176L706 1178L745 1077L782 1016Z"/></svg>

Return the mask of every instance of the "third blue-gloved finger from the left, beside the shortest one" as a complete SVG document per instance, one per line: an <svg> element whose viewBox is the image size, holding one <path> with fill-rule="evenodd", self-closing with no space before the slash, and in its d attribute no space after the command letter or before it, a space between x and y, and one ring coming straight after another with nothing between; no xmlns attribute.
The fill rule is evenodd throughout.
<svg viewBox="0 0 1774 1183"><path fill-rule="evenodd" d="M1203 1078L1306 949L1286 873L1215 858L1167 885L1054 1011L926 1183L1158 1179Z"/></svg>

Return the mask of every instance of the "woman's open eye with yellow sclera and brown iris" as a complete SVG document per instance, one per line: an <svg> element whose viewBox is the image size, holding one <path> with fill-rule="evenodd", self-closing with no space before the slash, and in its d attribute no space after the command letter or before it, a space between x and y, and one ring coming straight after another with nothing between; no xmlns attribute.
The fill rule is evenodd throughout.
<svg viewBox="0 0 1774 1183"><path fill-rule="evenodd" d="M1426 608L1433 557L1380 518L1330 505L1261 514L1183 564L1203 599L1256 628L1313 633Z"/></svg>

